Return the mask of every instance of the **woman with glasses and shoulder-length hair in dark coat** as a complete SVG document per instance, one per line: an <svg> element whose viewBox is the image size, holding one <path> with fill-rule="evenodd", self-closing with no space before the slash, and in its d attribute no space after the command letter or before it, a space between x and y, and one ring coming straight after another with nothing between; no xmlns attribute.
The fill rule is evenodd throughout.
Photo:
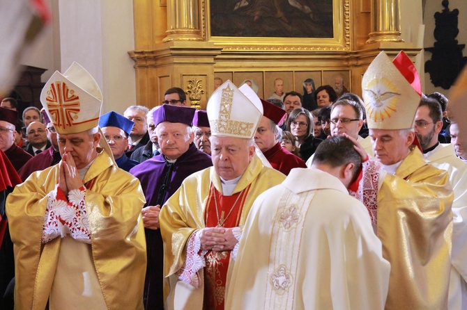
<svg viewBox="0 0 467 310"><path fill-rule="evenodd" d="M287 119L287 131L290 131L297 138L297 147L303 161L312 156L316 147L322 141L312 135L312 115L305 108L294 109Z"/></svg>

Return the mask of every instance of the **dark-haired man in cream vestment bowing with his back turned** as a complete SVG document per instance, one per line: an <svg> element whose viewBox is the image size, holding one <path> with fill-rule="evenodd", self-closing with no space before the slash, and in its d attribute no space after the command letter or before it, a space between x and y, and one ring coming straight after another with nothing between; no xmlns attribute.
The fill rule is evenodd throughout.
<svg viewBox="0 0 467 310"><path fill-rule="evenodd" d="M365 206L346 186L360 155L323 140L311 169L291 170L248 215L226 309L384 309L390 264Z"/></svg>

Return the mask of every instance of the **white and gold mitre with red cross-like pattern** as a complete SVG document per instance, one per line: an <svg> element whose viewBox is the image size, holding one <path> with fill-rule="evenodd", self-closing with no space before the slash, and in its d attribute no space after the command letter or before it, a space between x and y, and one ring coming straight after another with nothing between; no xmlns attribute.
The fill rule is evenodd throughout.
<svg viewBox="0 0 467 310"><path fill-rule="evenodd" d="M58 133L79 133L98 126L102 93L78 63L72 63L63 74L52 74L40 93L40 102Z"/></svg>

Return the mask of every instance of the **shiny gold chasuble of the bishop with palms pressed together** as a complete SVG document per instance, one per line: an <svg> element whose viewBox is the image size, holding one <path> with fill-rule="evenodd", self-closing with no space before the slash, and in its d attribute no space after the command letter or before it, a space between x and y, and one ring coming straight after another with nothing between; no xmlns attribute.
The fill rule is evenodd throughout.
<svg viewBox="0 0 467 310"><path fill-rule="evenodd" d="M15 244L15 309L45 309L52 291L64 239L59 236L42 243L41 236L47 195L58 179L59 164L34 172L8 195L6 211ZM107 309L143 309L146 242L141 208L145 199L139 181L98 148L83 182L89 187L85 203L91 238L91 244L84 246L89 247L105 305Z"/></svg>

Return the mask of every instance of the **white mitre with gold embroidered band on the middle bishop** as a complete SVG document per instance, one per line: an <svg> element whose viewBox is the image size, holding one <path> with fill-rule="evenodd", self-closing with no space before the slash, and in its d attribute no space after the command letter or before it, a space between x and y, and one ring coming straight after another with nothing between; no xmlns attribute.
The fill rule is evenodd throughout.
<svg viewBox="0 0 467 310"><path fill-rule="evenodd" d="M206 111L213 136L253 138L263 106L250 86L236 88L227 80L213 92Z"/></svg>

